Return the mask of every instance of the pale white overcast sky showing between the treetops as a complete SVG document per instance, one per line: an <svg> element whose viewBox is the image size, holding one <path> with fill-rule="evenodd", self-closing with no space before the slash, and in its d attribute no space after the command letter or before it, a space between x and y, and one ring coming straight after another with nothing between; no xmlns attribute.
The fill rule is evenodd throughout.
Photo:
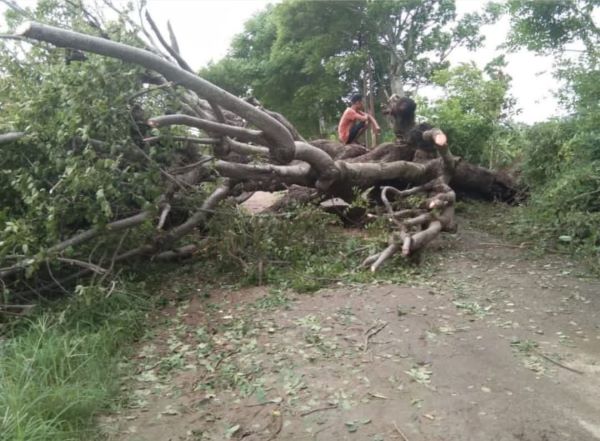
<svg viewBox="0 0 600 441"><path fill-rule="evenodd" d="M18 0L31 4L32 0ZM244 22L264 8L269 1L262 0L148 0L154 19L164 25L170 20L177 34L182 55L194 68L226 55L231 39L241 32ZM480 0L457 0L458 13L477 10ZM4 6L0 4L0 11ZM450 57L452 63L474 60L483 67L494 58L496 48L508 32L508 20L482 29L486 35L484 48L469 52L457 50ZM512 90L522 109L519 120L535 122L557 114L558 105L553 96L558 88L552 78L552 60L528 52L507 56L507 73L512 76Z"/></svg>

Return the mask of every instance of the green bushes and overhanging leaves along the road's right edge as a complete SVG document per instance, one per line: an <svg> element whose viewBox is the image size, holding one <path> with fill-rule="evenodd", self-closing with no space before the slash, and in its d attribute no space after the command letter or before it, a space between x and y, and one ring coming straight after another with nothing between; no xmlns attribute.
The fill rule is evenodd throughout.
<svg viewBox="0 0 600 441"><path fill-rule="evenodd" d="M560 98L571 113L526 131L523 178L531 200L513 231L600 268L600 32L594 23L600 2L511 0L506 8L513 48L558 56Z"/></svg>

